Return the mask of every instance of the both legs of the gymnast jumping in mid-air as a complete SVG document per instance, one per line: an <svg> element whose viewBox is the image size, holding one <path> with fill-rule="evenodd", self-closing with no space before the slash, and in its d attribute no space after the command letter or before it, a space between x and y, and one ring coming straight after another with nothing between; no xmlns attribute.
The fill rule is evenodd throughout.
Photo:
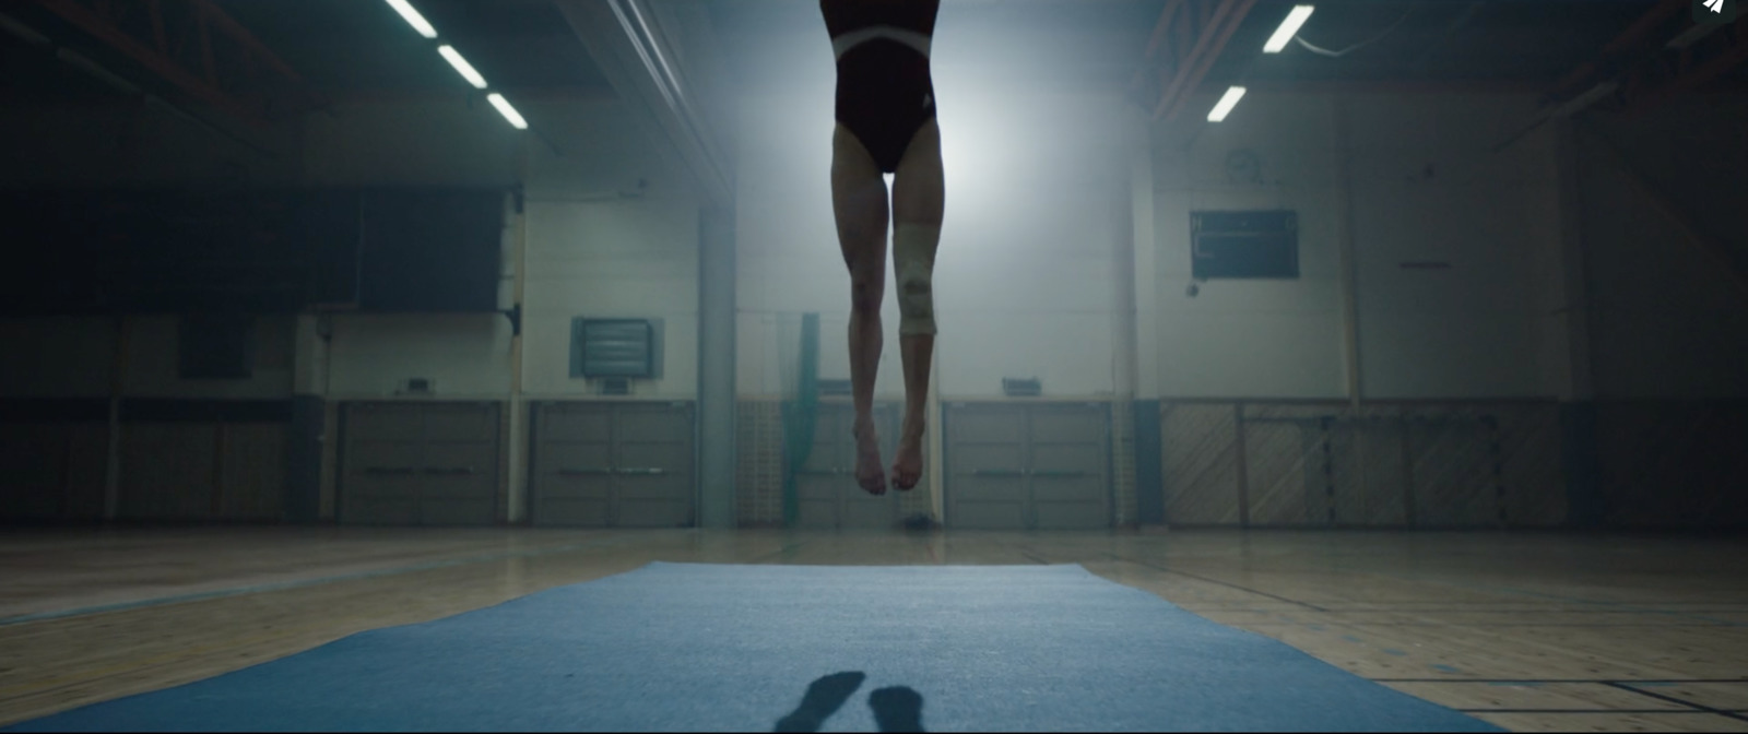
<svg viewBox="0 0 1748 734"><path fill-rule="evenodd" d="M893 225L893 269L898 278L898 346L904 364L904 425L891 482L912 489L923 475L923 409L935 346L930 280L946 184L940 128L930 117L912 135L893 173L888 211L886 182L867 147L843 124L832 133L832 211L837 243L850 267L850 386L855 404L857 484L886 491L879 435L874 430L874 377L883 348L879 308L886 292L886 220Z"/></svg>

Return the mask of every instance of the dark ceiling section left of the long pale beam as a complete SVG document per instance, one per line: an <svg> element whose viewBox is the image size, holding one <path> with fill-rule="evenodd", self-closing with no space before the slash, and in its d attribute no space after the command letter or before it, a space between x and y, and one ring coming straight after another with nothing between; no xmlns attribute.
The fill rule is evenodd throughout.
<svg viewBox="0 0 1748 734"><path fill-rule="evenodd" d="M274 73L271 65L239 52L232 37L210 31L213 72L205 72L203 45L189 12L205 0L163 0L154 17L143 0L112 2L108 17L124 35L154 44L154 24L166 28L164 58L227 96L273 98L281 114L311 107L309 94L329 101L467 94L472 87L437 56L434 40L420 37L381 0L210 0L232 17L267 52L294 70L299 82ZM75 0L98 7L93 0ZM460 51L493 89L505 94L612 96L587 49L551 0L414 0L439 30L440 40ZM114 72L133 86L166 100L187 100L189 91L142 63L89 28L70 23L31 0L0 5L0 24L47 37L51 44L0 33L0 100L80 101L115 98L117 87L77 65L56 59L65 47ZM157 51L157 49L150 49ZM269 115L271 117L271 115Z"/></svg>

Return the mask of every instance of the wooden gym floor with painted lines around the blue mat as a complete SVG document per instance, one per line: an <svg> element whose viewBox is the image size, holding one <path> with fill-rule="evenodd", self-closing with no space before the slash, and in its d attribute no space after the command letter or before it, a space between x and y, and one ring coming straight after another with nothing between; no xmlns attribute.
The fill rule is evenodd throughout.
<svg viewBox="0 0 1748 734"><path fill-rule="evenodd" d="M1745 540L1215 530L9 530L0 725L649 561L1080 563L1507 729L1748 731Z"/></svg>

